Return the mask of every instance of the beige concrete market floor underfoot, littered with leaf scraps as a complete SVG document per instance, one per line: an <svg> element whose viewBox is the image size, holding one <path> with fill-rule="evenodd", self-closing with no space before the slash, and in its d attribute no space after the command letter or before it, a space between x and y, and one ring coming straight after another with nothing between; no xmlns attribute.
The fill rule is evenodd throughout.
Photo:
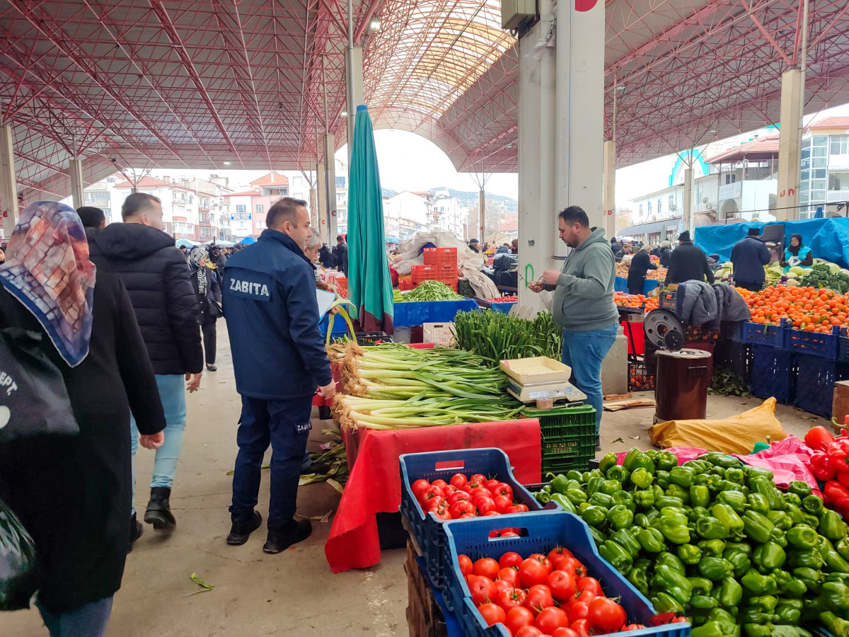
<svg viewBox="0 0 849 637"><path fill-rule="evenodd" d="M364 571L334 575L324 559L329 522L313 521L312 537L280 555L262 552L265 527L248 544L230 547L231 478L236 452L235 429L239 397L233 385L233 365L223 323L219 323L218 371L206 373L200 392L188 397L188 427L177 471L171 506L177 531L171 537L146 526L127 559L123 587L107 630L109 637L211 637L211 635L326 635L408 634L404 615L407 582L404 550L385 551L380 565ZM650 397L650 394L647 396ZM708 416L724 417L751 409L755 398L709 397ZM649 446L646 428L652 409L605 413L602 453ZM784 429L804 435L823 419L779 405L776 415ZM324 437L332 421L313 420L311 447ZM621 437L621 443L611 441ZM639 439L633 439L639 437ZM139 482L146 482L153 454L139 450ZM267 482L259 510L267 513ZM299 513L323 516L335 511L339 494L326 484L301 488ZM139 489L142 510L147 493ZM215 586L200 595L189 576ZM35 611L0 614L0 635L43 637L48 634Z"/></svg>

